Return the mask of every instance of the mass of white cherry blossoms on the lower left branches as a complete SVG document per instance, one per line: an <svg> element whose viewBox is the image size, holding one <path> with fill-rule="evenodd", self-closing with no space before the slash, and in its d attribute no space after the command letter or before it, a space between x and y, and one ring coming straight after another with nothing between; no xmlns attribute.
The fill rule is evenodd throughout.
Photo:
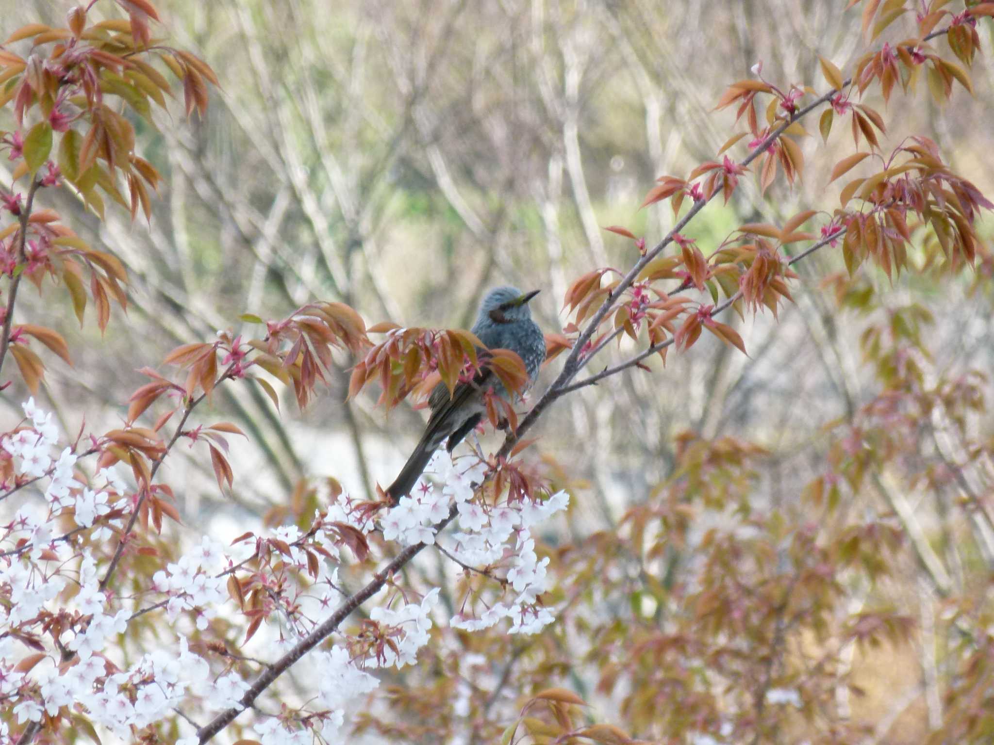
<svg viewBox="0 0 994 745"><path fill-rule="evenodd" d="M247 671L227 653L205 650L199 637L216 618L242 618L248 606L243 602L240 608L233 593L239 588L261 593L264 625L255 626L263 630L263 644L279 653L299 644L347 598L339 583L341 547L365 553L365 538L377 525L368 504L337 494L322 500L326 510L306 531L281 525L268 535L247 533L229 546L202 536L176 560L164 561L148 586L122 607L124 599L101 588L105 554L97 547L112 545L126 520L119 508L128 488L113 467L83 481L76 470L80 451L67 447L56 454L59 433L52 415L33 399L23 408L26 418L0 437L0 458L8 461L6 488L13 474L15 489L33 481L32 490L44 500L29 501L11 522L0 524L0 597L9 601L0 604L0 705L9 707L17 725L72 713L131 739L177 710L194 716L201 710L241 710ZM561 492L544 501L510 504L503 498L490 505L478 490L487 476L479 459L453 461L436 454L414 495L384 515L380 528L387 540L434 543L434 525L454 507L459 529L446 552L460 563L499 570L507 597L479 618L460 613L451 626L483 629L510 618L512 633L535 633L553 615L540 601L548 589L549 558L536 553L531 528L565 510L569 498ZM57 535L57 521L72 521L75 528ZM233 577L240 583L235 590ZM64 592L69 589L73 592ZM303 708L284 706L279 715L255 711L251 724L259 742L343 741L350 708L379 685L372 673L414 665L429 643L438 595L438 588L428 588L409 602L392 590L371 609L362 633L340 636L329 650L309 655L305 665L314 671L316 697ZM157 622L157 648L127 664L119 635L146 613L163 617ZM256 617L246 614L249 622ZM59 619L54 627L53 619ZM0 745L10 741L8 730L0 729ZM186 734L177 745L197 741Z"/></svg>

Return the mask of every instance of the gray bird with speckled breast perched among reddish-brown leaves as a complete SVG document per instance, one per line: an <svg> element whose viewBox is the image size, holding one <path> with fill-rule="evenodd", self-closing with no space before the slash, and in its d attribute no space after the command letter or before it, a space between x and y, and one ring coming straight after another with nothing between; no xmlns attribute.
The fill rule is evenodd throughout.
<svg viewBox="0 0 994 745"><path fill-rule="evenodd" d="M472 328L473 334L487 349L511 350L521 357L528 372L526 388L535 382L546 358L545 336L532 320L528 307L528 301L538 294L538 290L522 293L517 287L495 287L480 303ZM458 383L451 396L445 383L435 385L428 396L431 416L428 417L424 434L401 474L387 489L387 495L394 504L411 493L442 440L448 438L446 448L451 453L452 448L480 423L486 411L483 393L491 386L495 393L507 397L504 385L489 370L478 373L471 383Z"/></svg>

